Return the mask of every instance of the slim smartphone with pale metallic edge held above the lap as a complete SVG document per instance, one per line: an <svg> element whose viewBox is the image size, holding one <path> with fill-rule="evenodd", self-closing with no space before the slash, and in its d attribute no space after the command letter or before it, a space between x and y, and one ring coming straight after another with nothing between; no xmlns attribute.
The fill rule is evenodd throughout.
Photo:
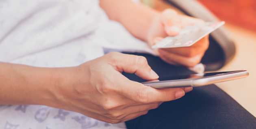
<svg viewBox="0 0 256 129"><path fill-rule="evenodd" d="M249 75L246 70L239 71L225 71L215 73L198 73L190 75L159 77L158 80L150 80L147 82L141 82L145 86L152 88L174 88L174 87L186 87L186 86L206 86L217 82L225 82L230 80L236 80L247 77Z"/></svg>

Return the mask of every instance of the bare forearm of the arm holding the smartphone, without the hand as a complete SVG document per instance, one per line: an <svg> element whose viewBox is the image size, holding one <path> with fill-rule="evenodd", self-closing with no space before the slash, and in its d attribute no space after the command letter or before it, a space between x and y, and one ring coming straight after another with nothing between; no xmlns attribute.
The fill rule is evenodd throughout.
<svg viewBox="0 0 256 129"><path fill-rule="evenodd" d="M60 68L0 62L0 104L45 104L61 83Z"/></svg>

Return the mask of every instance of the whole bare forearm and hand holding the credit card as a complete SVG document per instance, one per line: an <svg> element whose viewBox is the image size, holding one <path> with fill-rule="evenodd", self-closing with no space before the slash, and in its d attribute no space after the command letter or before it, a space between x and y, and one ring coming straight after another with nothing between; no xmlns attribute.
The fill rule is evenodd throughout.
<svg viewBox="0 0 256 129"><path fill-rule="evenodd" d="M118 21L135 37L154 45L167 36L175 36L188 24L203 23L201 19L178 15L172 9L156 11L131 0L100 0L108 17ZM193 67L201 61L208 49L208 37L190 47L155 49L159 57L172 65Z"/></svg>

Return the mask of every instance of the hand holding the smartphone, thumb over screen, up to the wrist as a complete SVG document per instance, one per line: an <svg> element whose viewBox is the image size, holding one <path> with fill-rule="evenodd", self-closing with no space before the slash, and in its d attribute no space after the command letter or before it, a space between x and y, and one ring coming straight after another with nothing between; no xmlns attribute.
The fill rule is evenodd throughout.
<svg viewBox="0 0 256 129"><path fill-rule="evenodd" d="M69 72L68 72L69 71ZM155 109L164 101L182 97L184 88L155 89L133 82L121 73L145 80L158 75L143 56L113 52L63 71L65 83L54 89L53 107L85 114L108 123L124 122ZM68 75L67 75L68 73ZM191 87L185 91L192 90Z"/></svg>

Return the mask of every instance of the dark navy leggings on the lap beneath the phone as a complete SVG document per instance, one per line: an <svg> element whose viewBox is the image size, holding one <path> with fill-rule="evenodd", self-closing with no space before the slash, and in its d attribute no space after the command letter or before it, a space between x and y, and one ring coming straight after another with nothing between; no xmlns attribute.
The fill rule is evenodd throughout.
<svg viewBox="0 0 256 129"><path fill-rule="evenodd" d="M168 65L156 56L133 54L145 56L161 77L194 73ZM123 74L130 80L141 80L135 74ZM195 87L180 99L164 102L148 114L127 121L126 126L128 129L256 129L256 118L212 84Z"/></svg>

